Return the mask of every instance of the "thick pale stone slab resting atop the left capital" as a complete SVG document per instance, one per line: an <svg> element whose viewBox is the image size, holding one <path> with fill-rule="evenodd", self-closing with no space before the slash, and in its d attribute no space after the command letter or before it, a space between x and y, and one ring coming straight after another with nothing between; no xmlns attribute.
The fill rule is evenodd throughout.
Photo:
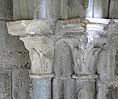
<svg viewBox="0 0 118 99"><path fill-rule="evenodd" d="M12 35L52 35L54 32L54 23L48 20L22 20L9 22L8 31Z"/></svg>

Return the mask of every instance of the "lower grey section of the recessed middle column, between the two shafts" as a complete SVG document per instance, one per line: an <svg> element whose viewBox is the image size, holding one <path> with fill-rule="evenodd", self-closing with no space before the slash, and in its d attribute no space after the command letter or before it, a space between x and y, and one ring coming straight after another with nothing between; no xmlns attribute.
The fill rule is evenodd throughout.
<svg viewBox="0 0 118 99"><path fill-rule="evenodd" d="M75 80L71 78L54 79L53 99L75 99Z"/></svg>

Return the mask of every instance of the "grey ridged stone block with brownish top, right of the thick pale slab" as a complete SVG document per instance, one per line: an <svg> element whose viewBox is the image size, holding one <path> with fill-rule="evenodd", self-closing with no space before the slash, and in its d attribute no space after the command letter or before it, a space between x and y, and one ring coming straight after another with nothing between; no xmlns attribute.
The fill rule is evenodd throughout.
<svg viewBox="0 0 118 99"><path fill-rule="evenodd" d="M56 24L56 36L82 36L85 32L85 25L79 19L58 21Z"/></svg>

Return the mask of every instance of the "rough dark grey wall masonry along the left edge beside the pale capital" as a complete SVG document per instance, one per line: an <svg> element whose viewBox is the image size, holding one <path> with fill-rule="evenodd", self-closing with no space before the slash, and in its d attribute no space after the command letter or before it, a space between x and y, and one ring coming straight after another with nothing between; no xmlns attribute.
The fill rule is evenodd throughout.
<svg viewBox="0 0 118 99"><path fill-rule="evenodd" d="M7 16L10 3L11 0L0 0L0 98L28 99L29 74L26 74L26 68L30 68L29 57L23 42L8 34L5 20L10 18ZM19 73L20 68L24 70Z"/></svg>

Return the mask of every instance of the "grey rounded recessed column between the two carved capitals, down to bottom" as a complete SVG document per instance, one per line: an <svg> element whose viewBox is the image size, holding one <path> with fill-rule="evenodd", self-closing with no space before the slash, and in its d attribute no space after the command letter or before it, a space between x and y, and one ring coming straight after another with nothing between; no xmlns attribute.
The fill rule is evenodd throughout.
<svg viewBox="0 0 118 99"><path fill-rule="evenodd" d="M53 99L75 99L75 80L71 78L73 56L66 39L55 44L54 72Z"/></svg>

